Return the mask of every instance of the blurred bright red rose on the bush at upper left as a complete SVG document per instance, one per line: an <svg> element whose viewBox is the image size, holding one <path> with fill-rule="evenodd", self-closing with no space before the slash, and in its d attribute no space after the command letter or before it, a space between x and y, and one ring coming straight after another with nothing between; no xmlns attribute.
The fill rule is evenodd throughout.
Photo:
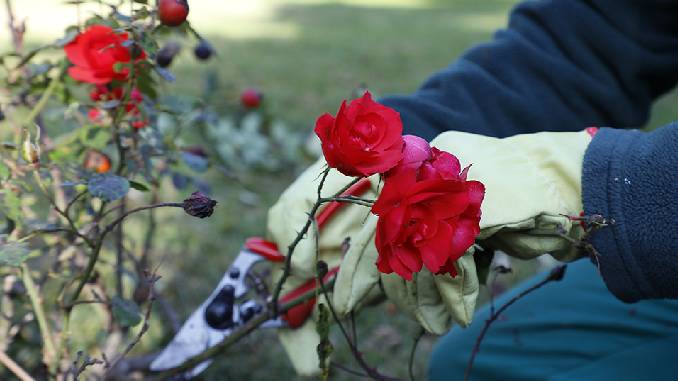
<svg viewBox="0 0 678 381"><path fill-rule="evenodd" d="M68 68L68 74L77 81L95 85L127 79L129 68L116 71L115 65L131 61L130 50L123 46L128 39L127 33L116 33L108 26L90 26L64 47L74 65ZM142 51L137 59L145 57Z"/></svg>

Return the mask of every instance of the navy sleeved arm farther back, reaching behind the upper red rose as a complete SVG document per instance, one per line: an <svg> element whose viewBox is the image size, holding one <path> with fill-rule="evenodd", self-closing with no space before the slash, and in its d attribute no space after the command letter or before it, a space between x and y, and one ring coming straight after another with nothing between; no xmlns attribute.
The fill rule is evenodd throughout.
<svg viewBox="0 0 678 381"><path fill-rule="evenodd" d="M415 93L380 101L405 132L505 137L638 127L678 81L678 1L542 0Z"/></svg>

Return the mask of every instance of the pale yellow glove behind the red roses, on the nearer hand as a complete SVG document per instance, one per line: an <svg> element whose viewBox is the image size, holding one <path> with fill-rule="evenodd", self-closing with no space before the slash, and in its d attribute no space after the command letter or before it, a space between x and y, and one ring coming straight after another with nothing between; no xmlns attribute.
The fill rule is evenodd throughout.
<svg viewBox="0 0 678 381"><path fill-rule="evenodd" d="M462 166L471 165L468 178L485 185L478 243L523 259L550 253L572 261L579 256L572 242L581 239L584 231L569 216L579 215L583 208L581 171L590 142L587 131L505 139L450 131L431 145L457 156ZM409 305L404 310L429 332L446 332L452 320L462 326L470 322L479 283L470 256L473 248L458 260L456 278L431 275L424 269L406 282L377 271L374 233L374 222L365 224L344 258L334 293L339 311L355 309L381 279L389 299ZM419 284L430 279L435 288ZM411 308L408 297L412 295L418 298L417 308Z"/></svg>

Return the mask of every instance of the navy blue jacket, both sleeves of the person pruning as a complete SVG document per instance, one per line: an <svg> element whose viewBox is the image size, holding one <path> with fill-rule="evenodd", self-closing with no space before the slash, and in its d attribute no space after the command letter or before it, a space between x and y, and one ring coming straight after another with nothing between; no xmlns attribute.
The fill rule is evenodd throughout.
<svg viewBox="0 0 678 381"><path fill-rule="evenodd" d="M638 127L678 82L678 0L542 0L411 95L381 101L405 132L506 137ZM615 224L593 237L620 299L678 297L678 125L603 129L589 146L584 209Z"/></svg>

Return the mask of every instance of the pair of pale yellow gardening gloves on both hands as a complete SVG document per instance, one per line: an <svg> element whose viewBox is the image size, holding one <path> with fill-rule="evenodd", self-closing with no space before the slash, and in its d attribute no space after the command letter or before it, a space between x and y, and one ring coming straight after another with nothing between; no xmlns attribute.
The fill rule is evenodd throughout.
<svg viewBox="0 0 678 381"><path fill-rule="evenodd" d="M462 165L472 164L468 178L485 185L481 232L478 240L520 258L551 253L560 260L573 260L577 250L562 234L578 239L579 224L567 216L578 215L581 203L581 169L591 137L587 132L539 133L506 139L461 132L441 134L432 146L456 155ZM270 238L286 247L306 221L316 197L322 162L306 171L288 189L269 214ZM324 194L329 195L350 181L333 171ZM376 196L378 179L373 179ZM412 315L429 332L445 333L452 321L467 325L478 292L473 248L457 262L459 275L433 275L426 269L406 282L395 274L380 274L375 262L374 233L377 217L357 205L334 218L320 236L320 256L330 266L341 261L334 306L340 314L359 308L369 295L383 290L389 299ZM351 246L341 259L341 243L351 237ZM293 257L293 287L314 276L315 247L312 234L302 240ZM281 333L283 344L293 353L295 368L302 374L317 370L313 323L299 332ZM313 341L315 339L316 341ZM298 343L297 343L298 341ZM297 345L298 344L298 345ZM308 353L304 353L304 351Z"/></svg>

